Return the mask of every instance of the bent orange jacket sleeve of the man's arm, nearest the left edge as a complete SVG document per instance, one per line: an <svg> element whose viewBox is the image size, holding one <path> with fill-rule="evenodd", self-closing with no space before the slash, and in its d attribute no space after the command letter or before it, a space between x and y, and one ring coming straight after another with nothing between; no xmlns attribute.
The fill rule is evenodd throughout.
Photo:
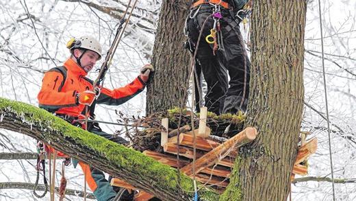
<svg viewBox="0 0 356 201"><path fill-rule="evenodd" d="M76 91L59 91L63 79L62 73L58 71L44 73L42 88L37 96L40 108L55 111L59 108L77 105L75 104Z"/></svg>

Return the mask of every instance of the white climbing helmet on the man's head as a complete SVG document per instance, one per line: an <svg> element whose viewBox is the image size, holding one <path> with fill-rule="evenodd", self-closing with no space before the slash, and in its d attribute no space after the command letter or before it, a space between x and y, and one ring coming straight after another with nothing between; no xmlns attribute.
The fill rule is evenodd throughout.
<svg viewBox="0 0 356 201"><path fill-rule="evenodd" d="M101 59L101 45L99 41L92 36L81 36L80 38L71 38L68 41L66 47L73 51L73 49L81 48L81 49L89 49L91 51L95 51L99 54L99 59Z"/></svg>

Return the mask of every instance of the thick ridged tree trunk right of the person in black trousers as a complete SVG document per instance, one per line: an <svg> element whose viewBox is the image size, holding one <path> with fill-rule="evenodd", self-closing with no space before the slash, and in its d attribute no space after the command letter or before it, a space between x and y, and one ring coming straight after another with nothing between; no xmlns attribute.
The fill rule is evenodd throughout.
<svg viewBox="0 0 356 201"><path fill-rule="evenodd" d="M253 1L245 126L257 128L259 135L242 148L221 200L285 200L288 196L303 113L305 12L305 1Z"/></svg>

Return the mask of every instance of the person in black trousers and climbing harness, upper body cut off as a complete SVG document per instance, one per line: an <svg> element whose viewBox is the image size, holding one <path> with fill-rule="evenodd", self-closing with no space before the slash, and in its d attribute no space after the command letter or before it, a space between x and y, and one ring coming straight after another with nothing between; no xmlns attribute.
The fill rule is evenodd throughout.
<svg viewBox="0 0 356 201"><path fill-rule="evenodd" d="M244 0L196 0L187 18L185 31L191 51L196 48L202 31L196 54L196 71L198 75L200 70L203 71L207 82L205 106L217 115L246 111L250 61L240 33L240 18L236 16L245 3ZM209 36L214 36L214 28L216 38Z"/></svg>

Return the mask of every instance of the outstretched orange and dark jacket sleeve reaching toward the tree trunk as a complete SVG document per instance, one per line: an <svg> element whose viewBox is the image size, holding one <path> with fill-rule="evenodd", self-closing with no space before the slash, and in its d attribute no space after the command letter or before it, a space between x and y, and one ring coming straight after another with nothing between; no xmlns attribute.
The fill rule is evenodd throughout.
<svg viewBox="0 0 356 201"><path fill-rule="evenodd" d="M146 84L138 76L138 78L126 86L115 88L114 90L102 88L97 103L118 106L143 91L144 86Z"/></svg>

